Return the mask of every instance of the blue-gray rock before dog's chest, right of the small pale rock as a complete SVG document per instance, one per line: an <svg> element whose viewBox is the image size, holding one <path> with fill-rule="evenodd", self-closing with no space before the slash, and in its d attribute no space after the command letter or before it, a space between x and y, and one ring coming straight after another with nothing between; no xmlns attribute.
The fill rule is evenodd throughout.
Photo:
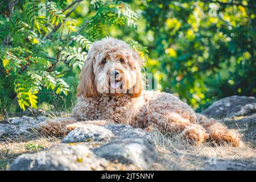
<svg viewBox="0 0 256 182"><path fill-rule="evenodd" d="M141 129L133 129L129 125L108 125L115 137L93 151L96 155L123 164L147 169L156 160L155 145L150 135Z"/></svg>

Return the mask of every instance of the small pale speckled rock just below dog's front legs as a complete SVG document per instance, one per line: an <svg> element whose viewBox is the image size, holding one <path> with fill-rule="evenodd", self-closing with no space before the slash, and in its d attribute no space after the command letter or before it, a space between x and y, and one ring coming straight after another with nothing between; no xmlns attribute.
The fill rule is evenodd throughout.
<svg viewBox="0 0 256 182"><path fill-rule="evenodd" d="M63 139L63 143L102 141L109 140L113 136L112 131L104 127L87 124L68 133Z"/></svg>

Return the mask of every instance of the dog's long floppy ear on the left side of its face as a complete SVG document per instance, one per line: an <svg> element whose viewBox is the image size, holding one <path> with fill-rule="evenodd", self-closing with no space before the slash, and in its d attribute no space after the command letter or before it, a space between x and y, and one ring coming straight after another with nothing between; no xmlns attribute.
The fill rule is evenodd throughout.
<svg viewBox="0 0 256 182"><path fill-rule="evenodd" d="M97 95L95 75L93 73L93 63L94 57L88 54L80 73L80 83L77 86L77 97L93 97Z"/></svg>

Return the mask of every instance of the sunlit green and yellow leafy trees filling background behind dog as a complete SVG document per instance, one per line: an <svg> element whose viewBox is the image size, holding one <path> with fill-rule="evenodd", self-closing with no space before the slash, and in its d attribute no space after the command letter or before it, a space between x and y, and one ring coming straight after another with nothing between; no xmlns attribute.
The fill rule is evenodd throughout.
<svg viewBox="0 0 256 182"><path fill-rule="evenodd" d="M254 1L52 2L0 3L2 113L20 110L14 104L17 75L31 93L23 97L24 107L70 109L91 42L108 35L125 40L142 56L148 52L146 72L159 74L156 89L174 93L198 111L222 97L256 95ZM38 15L44 8L40 3L46 5L45 17ZM7 61L17 57L16 66ZM33 61L43 63L33 67ZM35 92L27 89L33 80L39 81Z"/></svg>

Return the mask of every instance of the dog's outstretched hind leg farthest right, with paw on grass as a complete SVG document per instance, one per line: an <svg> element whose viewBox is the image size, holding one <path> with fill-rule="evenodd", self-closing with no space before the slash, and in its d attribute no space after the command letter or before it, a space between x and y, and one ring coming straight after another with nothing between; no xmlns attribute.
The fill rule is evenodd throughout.
<svg viewBox="0 0 256 182"><path fill-rule="evenodd" d="M242 135L238 131L230 130L216 119L207 118L201 114L197 114L197 118L199 118L200 125L210 134L210 139L217 143L226 142L231 143L233 146L243 146Z"/></svg>

